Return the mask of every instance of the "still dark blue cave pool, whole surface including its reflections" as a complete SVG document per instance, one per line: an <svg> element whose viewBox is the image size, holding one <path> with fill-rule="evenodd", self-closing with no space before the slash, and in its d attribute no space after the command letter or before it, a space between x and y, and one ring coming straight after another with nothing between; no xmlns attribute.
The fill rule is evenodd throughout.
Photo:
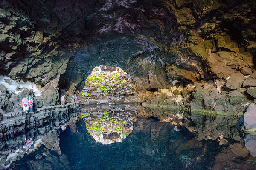
<svg viewBox="0 0 256 170"><path fill-rule="evenodd" d="M1 153L11 150L9 170L256 170L256 136L239 134L238 119L141 106L87 107L59 126L2 139ZM122 130L113 129L120 121ZM104 128L89 129L95 122Z"/></svg>

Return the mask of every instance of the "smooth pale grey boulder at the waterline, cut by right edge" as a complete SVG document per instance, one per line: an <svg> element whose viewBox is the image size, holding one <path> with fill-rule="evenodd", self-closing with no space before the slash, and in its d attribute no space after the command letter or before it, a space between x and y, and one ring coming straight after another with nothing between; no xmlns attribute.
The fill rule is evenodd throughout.
<svg viewBox="0 0 256 170"><path fill-rule="evenodd" d="M251 103L247 106L244 112L244 128L253 129L256 128L256 104Z"/></svg>

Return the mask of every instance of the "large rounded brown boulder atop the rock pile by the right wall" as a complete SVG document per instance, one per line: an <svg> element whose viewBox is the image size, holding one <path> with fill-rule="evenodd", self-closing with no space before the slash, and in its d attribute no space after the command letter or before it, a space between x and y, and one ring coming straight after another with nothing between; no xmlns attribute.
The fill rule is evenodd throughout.
<svg viewBox="0 0 256 170"><path fill-rule="evenodd" d="M232 74L230 79L227 80L226 87L236 90L241 87L245 79L241 73Z"/></svg>

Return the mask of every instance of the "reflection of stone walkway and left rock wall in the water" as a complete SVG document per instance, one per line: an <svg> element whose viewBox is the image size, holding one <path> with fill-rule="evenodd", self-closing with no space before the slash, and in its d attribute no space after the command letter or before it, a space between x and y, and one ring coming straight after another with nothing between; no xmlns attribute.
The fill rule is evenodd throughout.
<svg viewBox="0 0 256 170"><path fill-rule="evenodd" d="M39 142L38 144L34 144L34 148L38 148L41 146L41 144L44 144L44 147L56 151L59 155L61 154L60 148L59 148L59 129L62 125L67 124L70 121L70 118L78 116L78 113L67 113L64 112L64 114L56 115L49 115L45 117L47 114L44 114L44 120L39 119L37 123L35 122L27 122L28 124L26 126L18 126L19 130L23 130L23 133L26 134L27 139L29 137L32 137L34 142ZM55 116L55 117L54 117ZM32 119L32 117L30 118ZM43 120L43 121L42 121ZM17 126L17 125L16 125ZM17 133L19 130L14 129L11 127L15 133ZM22 147L25 144L25 135L19 135L16 136L15 133L9 133L6 136L2 136L0 138L0 164L5 164L6 166L11 163L14 160L20 160L24 153L31 153L32 151L35 151L34 149L29 149L28 151L23 150ZM45 149L42 149L43 152ZM47 151L48 152L48 151ZM17 153L17 154L16 154ZM10 157L12 155L11 161L7 161L7 157ZM44 155L47 156L47 155ZM62 155L64 156L64 155ZM36 159L37 161L40 161L42 155L37 155ZM31 158L31 157L28 157ZM26 158L25 158L26 159ZM64 159L64 157L63 157ZM67 160L66 163L67 164Z"/></svg>

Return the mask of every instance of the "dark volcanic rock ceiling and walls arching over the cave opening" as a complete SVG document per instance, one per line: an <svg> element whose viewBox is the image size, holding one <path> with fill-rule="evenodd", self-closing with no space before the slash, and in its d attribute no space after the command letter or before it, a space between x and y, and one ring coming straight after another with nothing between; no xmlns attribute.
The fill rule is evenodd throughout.
<svg viewBox="0 0 256 170"><path fill-rule="evenodd" d="M95 66L109 65L128 72L138 91L192 83L191 107L234 105L237 113L255 98L255 85L246 83L255 80L251 0L3 0L0 9L1 74L12 78L44 86L61 74L61 87L79 88ZM206 90L211 80L227 89ZM209 93L212 101L197 99ZM224 109L215 107L220 98Z"/></svg>

